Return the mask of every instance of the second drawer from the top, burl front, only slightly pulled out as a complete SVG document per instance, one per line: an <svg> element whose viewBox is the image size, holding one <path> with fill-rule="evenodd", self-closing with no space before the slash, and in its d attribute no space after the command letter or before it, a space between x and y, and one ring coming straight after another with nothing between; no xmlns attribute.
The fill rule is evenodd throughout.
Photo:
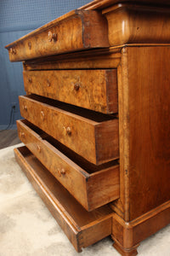
<svg viewBox="0 0 170 256"><path fill-rule="evenodd" d="M117 113L116 69L25 71L25 90L102 113Z"/></svg>

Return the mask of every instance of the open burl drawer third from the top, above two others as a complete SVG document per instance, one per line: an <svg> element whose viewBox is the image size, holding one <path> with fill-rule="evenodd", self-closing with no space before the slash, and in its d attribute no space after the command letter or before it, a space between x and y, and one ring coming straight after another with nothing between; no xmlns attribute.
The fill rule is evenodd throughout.
<svg viewBox="0 0 170 256"><path fill-rule="evenodd" d="M118 119L113 116L40 96L20 96L20 113L96 165L119 157Z"/></svg>

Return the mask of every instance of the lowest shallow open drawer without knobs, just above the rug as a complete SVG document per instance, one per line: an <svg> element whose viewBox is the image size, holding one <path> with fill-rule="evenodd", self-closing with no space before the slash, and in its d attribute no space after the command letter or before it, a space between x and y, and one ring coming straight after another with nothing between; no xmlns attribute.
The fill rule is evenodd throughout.
<svg viewBox="0 0 170 256"><path fill-rule="evenodd" d="M14 154L26 177L77 252L111 235L113 212L109 206L87 212L28 148L14 148Z"/></svg>

